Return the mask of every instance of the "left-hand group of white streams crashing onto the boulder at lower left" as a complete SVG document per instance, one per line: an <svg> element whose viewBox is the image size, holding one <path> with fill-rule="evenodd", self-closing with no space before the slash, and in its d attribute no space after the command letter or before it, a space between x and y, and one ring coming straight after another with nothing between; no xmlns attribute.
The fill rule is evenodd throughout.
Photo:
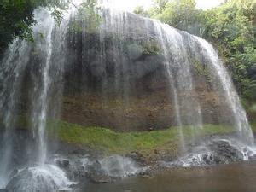
<svg viewBox="0 0 256 192"><path fill-rule="evenodd" d="M56 116L58 103L61 102L61 78L65 61L61 54L65 53L64 38L66 38L67 21L63 22L60 27L55 27L53 18L45 9L35 10L35 20L37 20L37 25L32 26L34 42L27 43L24 40L16 39L13 44L9 45L1 65L0 78L3 83L1 108L6 111L2 114L5 133L0 158L1 188L7 185L10 177L13 177L13 166L26 166L16 165L17 162L14 162L14 154L17 152L14 151L12 140L15 137L13 136L15 122L18 122L20 113L22 113L19 102L22 102L25 94L30 98L27 107L31 104L32 108L28 108L31 110L31 115L28 114L26 117L23 113L21 118L27 118L31 122L30 128L34 139L37 141L37 147L31 144L24 146L26 148L24 151L28 153L24 156L29 156L28 166L40 165L33 167L32 170L35 172L31 172L30 175L35 173L41 175L40 177L47 177L47 179L53 177L52 181L49 182L57 186L64 186L63 183L67 180L67 177L62 177L62 175L64 176L63 173L58 177L58 182L63 179L63 183L55 183L55 171L59 172L57 168L53 167L44 171L44 167L45 170L48 167L44 166L47 160L47 119L49 119L49 115L51 118ZM53 44L56 42L58 44ZM55 55L55 58L52 58L52 55ZM24 92L25 90L27 92ZM55 101L55 99L58 100ZM53 102L55 105L50 107ZM37 172L37 170L41 171ZM44 173L48 175L44 176ZM24 179L22 175L17 177L20 178L20 181ZM23 187L27 185L27 189L30 189L29 185L32 187L32 184L34 183L20 183Z"/></svg>

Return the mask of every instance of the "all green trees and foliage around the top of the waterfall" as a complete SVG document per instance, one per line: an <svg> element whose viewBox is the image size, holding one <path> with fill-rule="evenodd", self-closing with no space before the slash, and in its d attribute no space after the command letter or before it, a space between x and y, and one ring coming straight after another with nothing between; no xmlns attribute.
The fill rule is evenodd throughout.
<svg viewBox="0 0 256 192"><path fill-rule="evenodd" d="M86 21L88 32L95 32L101 22L96 0L84 0L79 7L79 20L73 28ZM9 42L20 36L32 41L33 10L49 7L56 23L72 5L71 0L2 0L0 1L0 57ZM150 16L206 38L218 48L224 63L230 68L240 95L249 101L256 99L256 2L255 0L226 0L214 9L196 8L195 0L155 0L154 7L137 7L135 13ZM145 52L158 51L155 46L144 46Z"/></svg>

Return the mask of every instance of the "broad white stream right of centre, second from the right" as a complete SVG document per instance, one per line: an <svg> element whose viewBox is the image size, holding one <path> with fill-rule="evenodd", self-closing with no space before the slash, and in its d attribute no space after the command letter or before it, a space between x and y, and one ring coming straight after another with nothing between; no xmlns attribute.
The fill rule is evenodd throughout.
<svg viewBox="0 0 256 192"><path fill-rule="evenodd" d="M188 60L187 44L182 32L172 26L154 20L154 27L164 50L166 71L172 88L174 112L179 127L182 152L186 152L183 136L183 125L202 127L201 106L194 96L195 88L190 73L191 63ZM195 130L196 131L196 130Z"/></svg>

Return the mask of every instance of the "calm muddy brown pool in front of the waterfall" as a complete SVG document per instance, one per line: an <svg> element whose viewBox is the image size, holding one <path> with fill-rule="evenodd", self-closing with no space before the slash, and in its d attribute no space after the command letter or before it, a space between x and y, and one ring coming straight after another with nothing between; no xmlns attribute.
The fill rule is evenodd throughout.
<svg viewBox="0 0 256 192"><path fill-rule="evenodd" d="M256 161L179 168L155 177L86 183L83 192L256 192Z"/></svg>

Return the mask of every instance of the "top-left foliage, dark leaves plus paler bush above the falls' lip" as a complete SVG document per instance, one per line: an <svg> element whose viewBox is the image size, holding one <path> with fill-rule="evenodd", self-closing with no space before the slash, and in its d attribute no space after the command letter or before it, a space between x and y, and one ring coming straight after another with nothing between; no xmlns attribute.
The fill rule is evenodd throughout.
<svg viewBox="0 0 256 192"><path fill-rule="evenodd" d="M0 1L0 58L3 50L15 37L33 41L31 26L36 24L33 10L47 7L51 11L57 25L61 24L62 16L70 6L75 6L71 0L1 0ZM82 20L99 22L96 14L96 0L84 0L79 6ZM92 23L92 22L91 22ZM95 26L91 26L93 28Z"/></svg>

